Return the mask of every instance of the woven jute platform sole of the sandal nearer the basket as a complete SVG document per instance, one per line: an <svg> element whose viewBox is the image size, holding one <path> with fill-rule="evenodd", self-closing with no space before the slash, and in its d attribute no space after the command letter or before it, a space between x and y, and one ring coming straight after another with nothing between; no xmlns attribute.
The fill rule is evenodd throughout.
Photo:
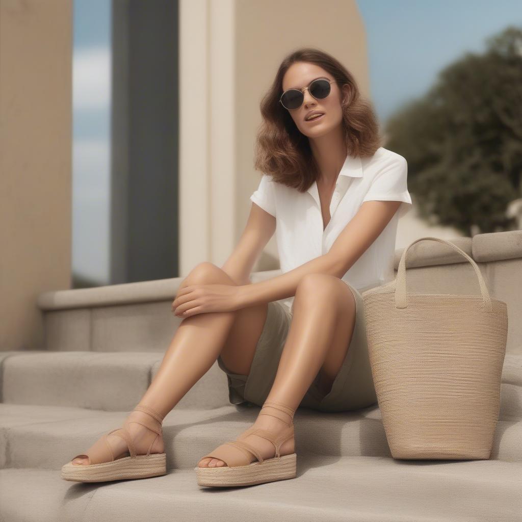
<svg viewBox="0 0 522 522"><path fill-rule="evenodd" d="M196 466L197 483L200 486L230 487L263 484L275 480L294 479L297 455L283 455L266 459L263 464L251 462L246 466L220 466L200 468Z"/></svg>

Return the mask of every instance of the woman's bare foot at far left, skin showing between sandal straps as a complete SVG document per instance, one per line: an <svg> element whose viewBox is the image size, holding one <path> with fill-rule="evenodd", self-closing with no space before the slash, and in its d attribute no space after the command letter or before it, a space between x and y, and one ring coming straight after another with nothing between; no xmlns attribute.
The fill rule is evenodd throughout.
<svg viewBox="0 0 522 522"><path fill-rule="evenodd" d="M154 444L152 444L152 447L150 448L150 453L164 453L165 447L163 444L163 436L158 436L156 432L149 430L146 426L136 423L146 423L146 417L148 417L150 421L150 416L148 413L135 410L132 411L129 414L129 416L125 419L125 421L129 421L129 423L127 424L127 429L131 434L131 438L134 442L136 455L146 455L150 444L156 437L158 437L158 439ZM118 458L128 457L130 455L127 443L122 437L116 435L116 433L117 432L114 432L113 434L107 436L107 442L109 446L111 446L112 454L114 455L114 460L117 460ZM89 452L91 448L89 448L87 451ZM87 456L76 457L72 460L72 463L77 466L87 466L90 464L89 457Z"/></svg>

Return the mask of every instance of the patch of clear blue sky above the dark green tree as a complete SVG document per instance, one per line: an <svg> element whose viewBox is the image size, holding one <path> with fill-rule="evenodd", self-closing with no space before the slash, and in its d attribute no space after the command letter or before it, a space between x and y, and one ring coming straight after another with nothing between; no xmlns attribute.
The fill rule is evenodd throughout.
<svg viewBox="0 0 522 522"><path fill-rule="evenodd" d="M439 70L512 24L520 0L358 0L366 28L371 98L384 122L422 96Z"/></svg>

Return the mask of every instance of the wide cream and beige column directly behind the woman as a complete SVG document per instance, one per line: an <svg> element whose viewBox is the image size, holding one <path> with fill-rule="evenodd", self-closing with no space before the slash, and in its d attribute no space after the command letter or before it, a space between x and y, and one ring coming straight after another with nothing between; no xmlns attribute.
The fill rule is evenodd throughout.
<svg viewBox="0 0 522 522"><path fill-rule="evenodd" d="M238 241L260 179L259 103L282 58L301 46L333 54L369 96L354 0L180 0L181 276L204 260L220 266ZM277 267L274 237L254 270Z"/></svg>

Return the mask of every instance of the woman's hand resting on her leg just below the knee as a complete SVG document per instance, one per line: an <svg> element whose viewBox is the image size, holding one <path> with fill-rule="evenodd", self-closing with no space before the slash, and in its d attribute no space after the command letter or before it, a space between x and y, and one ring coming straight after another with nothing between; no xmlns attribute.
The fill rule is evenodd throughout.
<svg viewBox="0 0 522 522"><path fill-rule="evenodd" d="M172 311L177 317L241 308L240 288L230 284L189 284L177 292Z"/></svg>

